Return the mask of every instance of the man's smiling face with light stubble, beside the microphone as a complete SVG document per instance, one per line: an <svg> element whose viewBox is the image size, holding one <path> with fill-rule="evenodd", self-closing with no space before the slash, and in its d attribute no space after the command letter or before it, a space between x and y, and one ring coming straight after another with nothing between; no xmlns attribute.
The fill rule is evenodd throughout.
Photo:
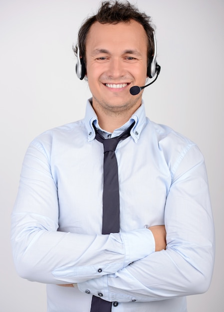
<svg viewBox="0 0 224 312"><path fill-rule="evenodd" d="M147 48L145 30L135 20L90 27L86 72L96 113L133 114L141 105L142 92L133 96L129 90L146 82Z"/></svg>

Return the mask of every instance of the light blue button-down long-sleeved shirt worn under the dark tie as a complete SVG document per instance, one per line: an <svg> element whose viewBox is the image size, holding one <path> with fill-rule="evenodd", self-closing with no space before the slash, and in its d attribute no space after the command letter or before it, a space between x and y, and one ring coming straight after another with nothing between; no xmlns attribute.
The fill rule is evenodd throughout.
<svg viewBox="0 0 224 312"><path fill-rule="evenodd" d="M186 296L208 290L214 224L204 158L193 142L145 116L116 149L120 233L102 235L103 145L87 102L83 120L44 132L28 147L12 212L18 274L46 283L48 312L90 312L92 295L112 312L186 312ZM165 224L155 252L147 228ZM77 283L77 288L57 284Z"/></svg>

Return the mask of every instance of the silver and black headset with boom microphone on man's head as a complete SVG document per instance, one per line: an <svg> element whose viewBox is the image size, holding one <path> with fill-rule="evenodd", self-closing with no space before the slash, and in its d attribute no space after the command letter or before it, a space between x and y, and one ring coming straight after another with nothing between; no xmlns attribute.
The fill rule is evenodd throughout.
<svg viewBox="0 0 224 312"><path fill-rule="evenodd" d="M154 79L154 81L156 81L159 73L160 73L160 65L158 65L157 60L156 60L156 56L157 56L157 44L156 44L156 36L155 33L153 31L153 40L154 40L154 55L150 58L148 67L147 67L147 76L149 78L153 78L156 74L156 78ZM85 77L86 74L86 67L85 67L85 63L83 58L80 55L80 51L79 51L79 46L77 49L77 63L75 66L75 70L76 70L76 75L77 77L82 80ZM153 81L153 82L154 82ZM152 84L153 82L149 83L146 86L143 87L138 87L138 86L134 86L130 89L130 92L132 95L136 95L138 94L142 89L144 89L145 87L148 87L150 84ZM139 89L137 89L139 88ZM131 91L132 90L132 91Z"/></svg>

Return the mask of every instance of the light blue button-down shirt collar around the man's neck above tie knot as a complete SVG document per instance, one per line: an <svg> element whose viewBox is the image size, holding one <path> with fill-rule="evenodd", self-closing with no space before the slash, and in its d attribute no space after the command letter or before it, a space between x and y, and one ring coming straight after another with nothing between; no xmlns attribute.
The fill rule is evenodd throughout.
<svg viewBox="0 0 224 312"><path fill-rule="evenodd" d="M90 98L89 100L87 100L86 112L85 112L85 118L84 118L84 123L85 123L87 133L88 133L88 142L95 139L95 130L92 126L93 122L97 128L99 128L101 131L104 131L103 129L101 129L99 127L98 118L96 116L96 113L95 113L91 103L92 103L92 99ZM115 129L115 131L113 132L114 135L112 134L111 137L116 137L119 134L121 134L123 131L125 131L133 123L133 121L135 121L135 125L131 130L131 136L134 139L134 141L137 142L138 139L140 138L140 134L141 134L141 132L142 132L142 130L146 124L144 101L142 101L141 106L132 115L132 117L129 119L129 121L126 124L124 124L123 126L121 126L119 129Z"/></svg>

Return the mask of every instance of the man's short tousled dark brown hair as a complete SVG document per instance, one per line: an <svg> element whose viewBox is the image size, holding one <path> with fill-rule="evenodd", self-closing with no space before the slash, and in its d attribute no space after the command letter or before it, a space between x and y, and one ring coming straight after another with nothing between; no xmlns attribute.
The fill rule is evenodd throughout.
<svg viewBox="0 0 224 312"><path fill-rule="evenodd" d="M94 22L98 21L101 24L116 24L119 22L129 22L131 19L139 22L146 31L148 37L148 60L150 60L154 54L154 29L150 24L151 17L147 16L143 12L140 12L138 8L128 1L102 1L101 7L96 15L88 17L80 27L78 32L78 43L76 46L73 46L75 55L77 55L77 49L79 46L79 54L85 62L86 38L88 31Z"/></svg>

